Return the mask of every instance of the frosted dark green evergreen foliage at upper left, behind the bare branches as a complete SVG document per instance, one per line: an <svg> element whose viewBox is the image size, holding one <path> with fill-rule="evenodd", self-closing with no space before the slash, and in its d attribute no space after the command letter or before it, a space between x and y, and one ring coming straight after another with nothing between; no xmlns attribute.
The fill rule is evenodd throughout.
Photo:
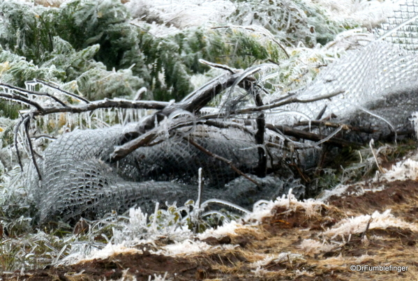
<svg viewBox="0 0 418 281"><path fill-rule="evenodd" d="M201 26L152 36L146 22L130 24L117 0L73 0L60 8L3 1L0 10L0 63L10 65L3 82L75 80L92 99L133 96L147 86L156 100L179 100L193 90L191 75L209 69L199 59L248 68L283 58L278 45L250 31Z"/></svg>

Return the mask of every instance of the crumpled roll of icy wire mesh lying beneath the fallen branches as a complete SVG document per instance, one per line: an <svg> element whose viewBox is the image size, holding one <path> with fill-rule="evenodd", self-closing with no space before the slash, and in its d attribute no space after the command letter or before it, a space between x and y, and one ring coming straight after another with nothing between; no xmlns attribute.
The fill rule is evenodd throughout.
<svg viewBox="0 0 418 281"><path fill-rule="evenodd" d="M100 218L106 212L126 211L133 205L151 212L156 202L180 202L197 198L197 170L204 171L204 197L221 197L250 206L259 194L249 198L257 185L248 180L229 183L234 171L220 160L202 153L183 141L166 140L151 147L142 147L115 165L105 162L114 146L123 142L129 127L115 126L96 130L75 130L65 134L44 151L43 180L33 171L31 187L40 209L40 222L59 216L75 222L84 218ZM240 130L197 128L196 142L224 158L232 160L242 171L257 166L257 150L250 137ZM276 195L290 187L301 194L298 183L267 177L263 195ZM229 187L229 188L228 188ZM34 191L33 190L33 191Z"/></svg>

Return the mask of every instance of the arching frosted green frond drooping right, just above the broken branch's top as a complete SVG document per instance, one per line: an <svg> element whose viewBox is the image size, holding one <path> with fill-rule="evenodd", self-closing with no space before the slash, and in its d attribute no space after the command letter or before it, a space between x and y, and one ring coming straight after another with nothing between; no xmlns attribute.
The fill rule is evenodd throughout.
<svg viewBox="0 0 418 281"><path fill-rule="evenodd" d="M149 24L140 29L140 49L151 69L150 86L156 100L164 99L167 92L171 92L170 96L175 100L189 93L192 90L189 76L209 70L199 63L199 59L248 68L255 63L278 61L284 57L278 45L264 36L237 28L202 26L164 38L149 34ZM163 79L159 79L160 74Z"/></svg>

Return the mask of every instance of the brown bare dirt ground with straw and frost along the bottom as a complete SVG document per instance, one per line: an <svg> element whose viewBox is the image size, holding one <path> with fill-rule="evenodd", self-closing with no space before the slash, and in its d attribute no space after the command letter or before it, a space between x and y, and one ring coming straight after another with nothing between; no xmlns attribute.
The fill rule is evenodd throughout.
<svg viewBox="0 0 418 281"><path fill-rule="evenodd" d="M382 185L385 190L373 191ZM359 190L370 191L351 195ZM221 238L205 239L214 248L199 254L165 256L148 251L119 254L71 266L3 273L0 279L149 280L151 275L154 280L154 275L167 273L165 280L418 280L416 229L366 227L361 234L324 236L324 231L345 218L382 213L389 208L395 218L418 226L417 181L353 185L343 195L329 197L327 203L311 216L303 208L274 208L260 225L242 227ZM306 239L312 243L327 241L331 246L307 250L301 246ZM237 246L226 250L223 246L228 244ZM278 255L283 252L291 254L280 258ZM408 269L352 271L350 265L408 266Z"/></svg>

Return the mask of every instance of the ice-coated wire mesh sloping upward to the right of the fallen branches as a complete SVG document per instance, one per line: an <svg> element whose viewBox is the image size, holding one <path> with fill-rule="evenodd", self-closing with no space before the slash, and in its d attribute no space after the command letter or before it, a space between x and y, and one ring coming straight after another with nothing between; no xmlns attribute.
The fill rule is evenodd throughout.
<svg viewBox="0 0 418 281"><path fill-rule="evenodd" d="M415 54L390 43L370 43L348 51L296 94L299 100L338 93L336 96L292 103L281 110L299 112L311 120L317 119L322 112L323 117L334 115L340 121L358 119L358 114L369 112L367 118L361 119L363 125L380 126L380 130L385 130L387 123L382 122L383 118L396 129L408 124L408 116L417 109L417 70ZM373 117L373 114L382 118ZM275 122L291 124L300 119L304 118L297 116L295 119L288 114L281 115Z"/></svg>

